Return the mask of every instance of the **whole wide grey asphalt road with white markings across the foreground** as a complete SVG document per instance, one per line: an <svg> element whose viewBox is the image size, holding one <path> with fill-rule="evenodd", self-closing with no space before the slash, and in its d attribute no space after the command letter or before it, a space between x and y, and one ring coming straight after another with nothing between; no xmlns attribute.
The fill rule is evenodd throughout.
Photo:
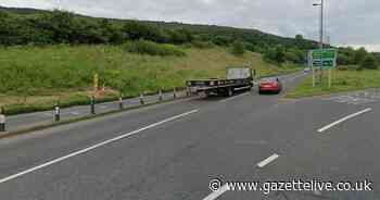
<svg viewBox="0 0 380 200"><path fill-rule="evenodd" d="M0 199L380 199L378 93L186 99L3 139ZM368 179L373 191L211 191L214 178Z"/></svg>

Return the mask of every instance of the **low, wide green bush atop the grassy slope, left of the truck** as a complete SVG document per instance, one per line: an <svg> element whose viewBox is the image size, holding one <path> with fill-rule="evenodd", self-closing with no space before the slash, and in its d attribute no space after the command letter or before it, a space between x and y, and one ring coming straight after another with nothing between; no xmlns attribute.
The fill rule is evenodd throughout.
<svg viewBox="0 0 380 200"><path fill-rule="evenodd" d="M175 55L175 57L185 57L186 53L180 48L174 45L161 45L147 40L138 40L128 42L125 45L125 50L131 53L139 54L150 54L150 55Z"/></svg>

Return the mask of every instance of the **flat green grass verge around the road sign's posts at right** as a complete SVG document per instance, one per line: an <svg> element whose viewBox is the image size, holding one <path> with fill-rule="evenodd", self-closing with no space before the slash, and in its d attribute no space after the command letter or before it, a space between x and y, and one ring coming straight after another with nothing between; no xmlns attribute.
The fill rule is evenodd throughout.
<svg viewBox="0 0 380 200"><path fill-rule="evenodd" d="M317 78L318 79L318 78ZM305 78L293 91L289 92L287 98L303 98L312 96L322 96L343 91L354 91L368 88L380 87L380 70L349 70L333 71L331 88L328 87L327 73L322 85L312 87L312 76Z"/></svg>

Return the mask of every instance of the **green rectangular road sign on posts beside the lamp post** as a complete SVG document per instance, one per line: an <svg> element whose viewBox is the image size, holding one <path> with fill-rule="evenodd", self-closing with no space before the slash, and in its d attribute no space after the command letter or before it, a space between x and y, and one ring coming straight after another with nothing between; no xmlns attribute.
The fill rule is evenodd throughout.
<svg viewBox="0 0 380 200"><path fill-rule="evenodd" d="M313 67L329 70L337 66L335 49L317 49L309 52L309 62Z"/></svg>

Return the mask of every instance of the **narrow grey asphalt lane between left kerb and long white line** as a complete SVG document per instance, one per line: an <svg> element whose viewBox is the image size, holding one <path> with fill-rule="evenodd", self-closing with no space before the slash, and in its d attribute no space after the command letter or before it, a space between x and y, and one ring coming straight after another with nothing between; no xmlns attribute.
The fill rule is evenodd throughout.
<svg viewBox="0 0 380 200"><path fill-rule="evenodd" d="M0 175L15 174L75 150L132 132L163 118L208 104L207 101L182 101L144 108L112 116L69 124L36 134L0 140ZM25 138L25 139L24 139ZM20 148L22 147L22 148Z"/></svg>

